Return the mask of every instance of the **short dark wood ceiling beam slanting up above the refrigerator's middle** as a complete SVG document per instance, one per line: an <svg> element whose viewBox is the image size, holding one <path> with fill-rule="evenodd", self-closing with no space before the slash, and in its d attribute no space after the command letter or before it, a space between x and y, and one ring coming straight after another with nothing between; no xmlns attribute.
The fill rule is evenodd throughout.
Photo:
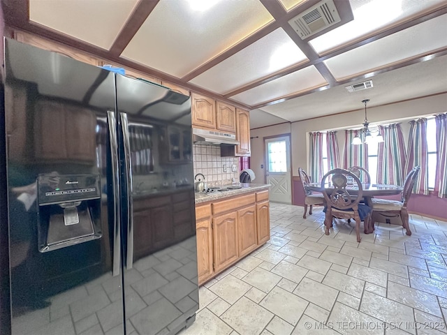
<svg viewBox="0 0 447 335"><path fill-rule="evenodd" d="M122 31L119 32L112 47L110 47L111 57L119 57L122 54L138 29L140 29L141 25L145 23L147 17L152 13L157 3L159 3L159 0L140 0L124 24Z"/></svg>

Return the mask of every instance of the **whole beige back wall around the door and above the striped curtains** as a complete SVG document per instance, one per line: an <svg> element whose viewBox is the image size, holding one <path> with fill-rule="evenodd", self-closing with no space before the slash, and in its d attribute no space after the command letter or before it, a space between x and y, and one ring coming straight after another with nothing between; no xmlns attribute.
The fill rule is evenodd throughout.
<svg viewBox="0 0 447 335"><path fill-rule="evenodd" d="M298 168L303 167L309 170L309 132L337 130L340 148L340 158L343 156L342 148L344 146L344 129L360 128L365 118L363 109L354 112L346 112L328 117L319 117L307 121L293 122L292 124L279 124L265 128L258 128L251 131L251 136L258 136L251 140L251 169L256 173L256 177L263 170L260 166L264 160L263 137L279 135L291 132L292 143L292 171L293 176L298 175ZM390 124L393 122L402 122L405 141L407 140L408 123L407 120L417 117L439 114L447 112L447 94L439 94L427 98L419 98L402 103L394 103L381 107L367 107L368 121L374 123ZM290 128L289 128L290 127ZM258 181L258 180L256 180ZM258 182L261 182L259 180Z"/></svg>

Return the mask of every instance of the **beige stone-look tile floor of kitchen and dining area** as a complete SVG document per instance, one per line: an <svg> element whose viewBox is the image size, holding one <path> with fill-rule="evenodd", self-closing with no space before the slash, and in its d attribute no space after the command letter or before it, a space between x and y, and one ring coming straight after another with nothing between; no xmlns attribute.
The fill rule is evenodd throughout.
<svg viewBox="0 0 447 335"><path fill-rule="evenodd" d="M180 334L447 334L447 222L411 215L411 237L379 224L359 244L302 214L271 203L270 241L200 288Z"/></svg>

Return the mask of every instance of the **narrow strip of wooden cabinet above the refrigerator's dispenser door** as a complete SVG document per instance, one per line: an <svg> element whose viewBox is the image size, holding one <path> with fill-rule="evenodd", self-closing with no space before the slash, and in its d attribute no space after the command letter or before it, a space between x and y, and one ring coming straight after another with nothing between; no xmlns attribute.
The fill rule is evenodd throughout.
<svg viewBox="0 0 447 335"><path fill-rule="evenodd" d="M67 57L76 59L78 61L83 61L87 64L91 64L94 66L103 65L103 61L101 59L98 59L91 54L75 50L71 47L53 42L52 40L47 40L46 38L42 38L40 36L25 33L24 31L15 31L14 38L19 42L34 45L35 47L40 47L41 49L59 52L59 54L64 54Z"/></svg>

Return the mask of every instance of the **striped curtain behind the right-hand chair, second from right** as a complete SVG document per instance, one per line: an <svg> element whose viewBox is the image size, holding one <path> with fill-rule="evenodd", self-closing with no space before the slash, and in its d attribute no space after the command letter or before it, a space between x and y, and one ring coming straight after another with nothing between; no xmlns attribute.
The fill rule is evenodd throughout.
<svg viewBox="0 0 447 335"><path fill-rule="evenodd" d="M427 174L427 119L410 121L410 133L408 148L406 151L405 174L415 167L420 166L418 179L414 183L413 192L416 194L428 194Z"/></svg>

